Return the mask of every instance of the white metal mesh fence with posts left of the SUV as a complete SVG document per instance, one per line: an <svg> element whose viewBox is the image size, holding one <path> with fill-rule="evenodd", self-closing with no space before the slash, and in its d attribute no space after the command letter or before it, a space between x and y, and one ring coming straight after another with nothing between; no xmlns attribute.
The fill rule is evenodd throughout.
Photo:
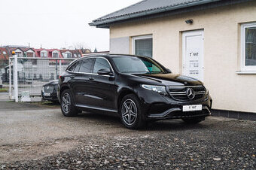
<svg viewBox="0 0 256 170"><path fill-rule="evenodd" d="M9 96L16 102L24 96L29 100L41 98L42 86L57 80L62 71L65 71L70 62L75 59L37 58L37 57L10 57L8 77ZM5 78L6 78L5 77Z"/></svg>

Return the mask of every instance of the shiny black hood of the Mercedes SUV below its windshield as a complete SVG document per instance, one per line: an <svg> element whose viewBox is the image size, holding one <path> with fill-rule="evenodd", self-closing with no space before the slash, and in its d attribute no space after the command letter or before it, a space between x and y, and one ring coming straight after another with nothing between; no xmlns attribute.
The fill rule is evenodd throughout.
<svg viewBox="0 0 256 170"><path fill-rule="evenodd" d="M166 86L196 86L202 85L200 80L181 74L133 74L148 79L154 83L163 83Z"/></svg>

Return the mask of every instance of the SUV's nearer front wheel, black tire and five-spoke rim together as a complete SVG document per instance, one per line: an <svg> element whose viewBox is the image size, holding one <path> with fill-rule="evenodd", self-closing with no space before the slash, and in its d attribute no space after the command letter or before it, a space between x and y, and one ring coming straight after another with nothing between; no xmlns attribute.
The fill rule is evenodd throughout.
<svg viewBox="0 0 256 170"><path fill-rule="evenodd" d="M126 128L139 129L145 126L145 114L137 96L124 96L119 106L120 119Z"/></svg>

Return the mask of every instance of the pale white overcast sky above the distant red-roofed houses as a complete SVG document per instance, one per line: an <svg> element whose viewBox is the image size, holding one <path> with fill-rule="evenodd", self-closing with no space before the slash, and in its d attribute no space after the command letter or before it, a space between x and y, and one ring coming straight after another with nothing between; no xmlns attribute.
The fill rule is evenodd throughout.
<svg viewBox="0 0 256 170"><path fill-rule="evenodd" d="M140 0L0 0L0 46L109 50L109 30L92 20Z"/></svg>

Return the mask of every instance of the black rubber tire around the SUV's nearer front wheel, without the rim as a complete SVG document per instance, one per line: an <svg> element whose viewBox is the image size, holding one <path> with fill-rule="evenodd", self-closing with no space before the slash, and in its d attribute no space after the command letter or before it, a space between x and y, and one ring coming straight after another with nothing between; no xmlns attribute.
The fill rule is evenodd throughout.
<svg viewBox="0 0 256 170"><path fill-rule="evenodd" d="M136 108L137 108L137 118L136 118L136 122L133 123L133 125L127 125L123 121L123 116L122 116L121 110L122 110L123 102L125 102L127 99L133 100L133 102L136 104ZM145 125L144 111L142 109L142 106L139 103L139 99L134 94L126 95L126 96L123 97L123 99L122 99L122 101L120 102L120 105L119 105L119 114L120 114L120 119L121 119L123 125L126 126L126 128L128 128L128 129L139 129L139 128L142 128Z"/></svg>

